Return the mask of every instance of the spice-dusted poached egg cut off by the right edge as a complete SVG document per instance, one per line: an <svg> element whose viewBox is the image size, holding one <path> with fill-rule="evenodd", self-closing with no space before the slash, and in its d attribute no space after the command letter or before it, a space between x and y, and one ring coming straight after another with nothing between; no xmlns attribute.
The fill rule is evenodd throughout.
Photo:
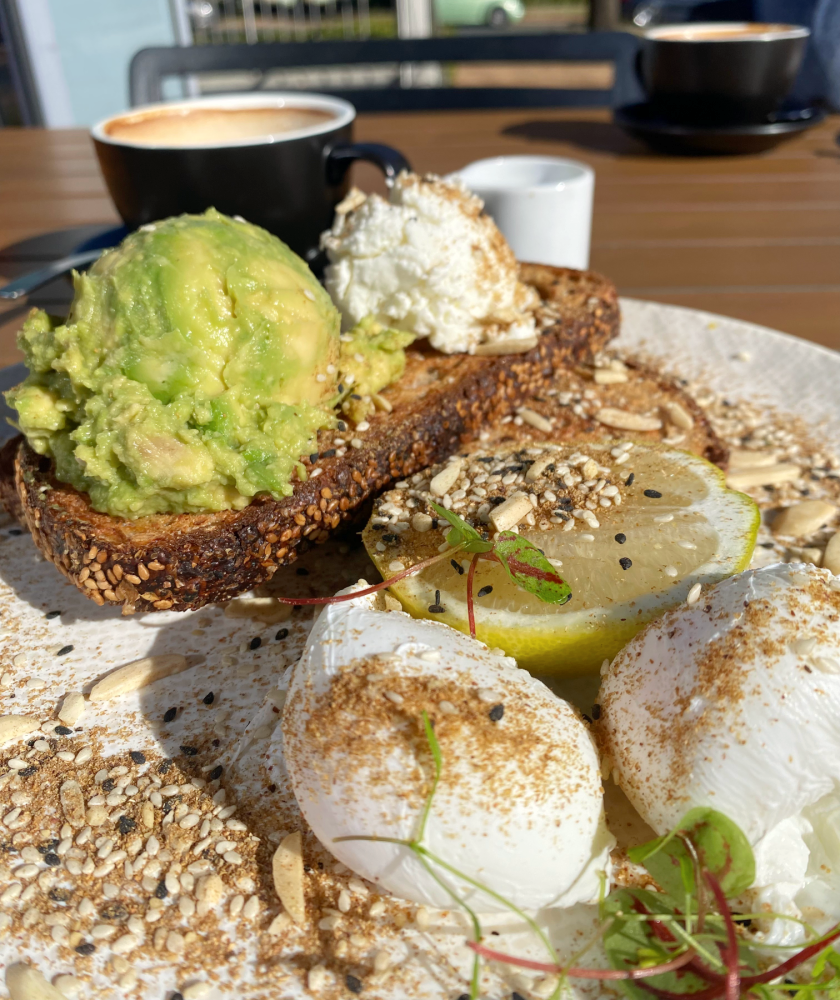
<svg viewBox="0 0 840 1000"><path fill-rule="evenodd" d="M717 584L618 654L600 703L613 776L657 833L711 806L753 845L754 907L840 919L840 578L791 563Z"/></svg>

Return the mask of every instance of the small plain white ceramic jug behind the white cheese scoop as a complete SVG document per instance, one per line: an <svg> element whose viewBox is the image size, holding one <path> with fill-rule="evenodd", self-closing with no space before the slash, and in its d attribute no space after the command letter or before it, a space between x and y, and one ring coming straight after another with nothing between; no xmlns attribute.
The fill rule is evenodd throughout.
<svg viewBox="0 0 840 1000"><path fill-rule="evenodd" d="M457 171L517 259L589 267L595 172L556 156L494 156Z"/></svg>

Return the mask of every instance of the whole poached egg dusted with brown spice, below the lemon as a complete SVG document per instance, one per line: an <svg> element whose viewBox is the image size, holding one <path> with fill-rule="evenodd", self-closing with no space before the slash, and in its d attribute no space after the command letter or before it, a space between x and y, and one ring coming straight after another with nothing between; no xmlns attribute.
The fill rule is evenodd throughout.
<svg viewBox="0 0 840 1000"><path fill-rule="evenodd" d="M321 843L396 896L452 906L408 848L336 840L417 836L434 777L424 711L443 760L424 846L524 909L597 899L614 841L580 716L513 660L373 597L324 609L283 713L292 788ZM430 864L476 910L505 909Z"/></svg>

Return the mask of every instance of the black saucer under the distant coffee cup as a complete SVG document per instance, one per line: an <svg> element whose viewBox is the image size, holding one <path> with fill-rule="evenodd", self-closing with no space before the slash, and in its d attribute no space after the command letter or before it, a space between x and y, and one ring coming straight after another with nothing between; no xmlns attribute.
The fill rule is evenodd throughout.
<svg viewBox="0 0 840 1000"><path fill-rule="evenodd" d="M613 120L664 153L760 153L818 125L825 115L821 108L794 108L750 125L685 125L665 118L645 103L616 108Z"/></svg>

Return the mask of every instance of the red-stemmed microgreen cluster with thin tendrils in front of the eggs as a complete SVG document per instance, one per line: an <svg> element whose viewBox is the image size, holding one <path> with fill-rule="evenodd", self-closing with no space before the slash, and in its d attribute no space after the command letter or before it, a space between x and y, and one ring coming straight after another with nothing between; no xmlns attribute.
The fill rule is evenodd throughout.
<svg viewBox="0 0 840 1000"><path fill-rule="evenodd" d="M453 526L454 527L454 526ZM468 545L465 533L457 544ZM451 550L450 550L451 551ZM473 552L473 555L480 553ZM447 553L448 555L448 553ZM558 1000L569 979L615 982L631 1000L775 1000L780 996L818 1000L840 997L840 954L832 947L840 939L840 924L816 937L786 960L766 967L771 946L754 941L738 924L755 919L787 919L784 914L743 914L729 900L755 880L755 858L739 827L722 813L700 807L690 810L665 837L632 848L631 860L643 865L661 891L614 889L599 901L597 933L572 959L560 961L547 934L529 914L500 893L459 871L424 844L433 800L443 774L443 754L427 712L423 732L432 756L431 787L413 838L347 836L339 841L396 844L410 850L428 873L469 917L475 959L470 997L479 996L480 960L558 976L549 1000ZM548 961L510 955L483 943L481 921L447 875L471 886L521 919L548 953ZM793 918L791 918L793 919ZM795 923L807 926L801 920ZM611 968L586 968L577 963L601 942ZM785 949L781 949L785 950ZM795 969L813 962L810 978L784 980Z"/></svg>

